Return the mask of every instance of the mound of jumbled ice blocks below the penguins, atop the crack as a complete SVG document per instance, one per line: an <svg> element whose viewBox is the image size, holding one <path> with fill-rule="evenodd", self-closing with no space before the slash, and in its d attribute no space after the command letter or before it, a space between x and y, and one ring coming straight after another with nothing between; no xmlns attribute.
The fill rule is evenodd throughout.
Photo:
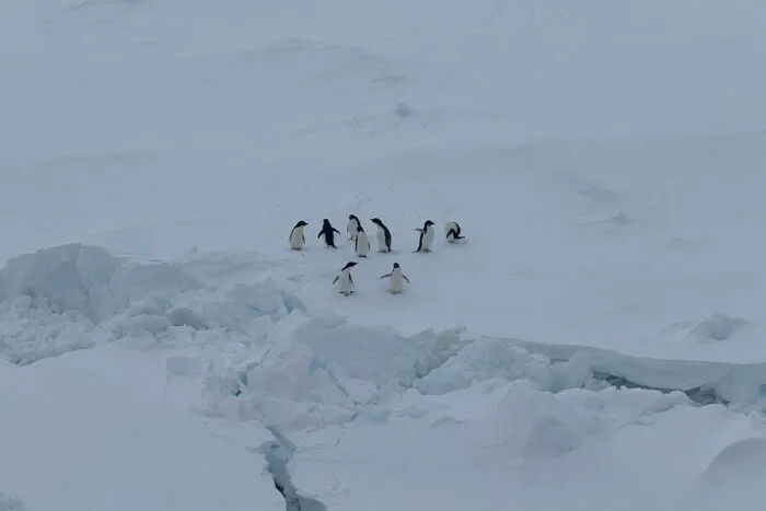
<svg viewBox="0 0 766 511"><path fill-rule="evenodd" d="M416 346L408 338L329 315L286 317L256 351L209 374L210 413L286 428L343 423L416 379Z"/></svg>

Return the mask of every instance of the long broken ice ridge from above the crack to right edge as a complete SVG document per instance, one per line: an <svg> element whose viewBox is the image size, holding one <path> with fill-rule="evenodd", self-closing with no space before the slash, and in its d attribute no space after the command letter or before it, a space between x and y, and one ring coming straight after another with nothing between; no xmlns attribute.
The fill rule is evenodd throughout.
<svg viewBox="0 0 766 511"><path fill-rule="evenodd" d="M461 333L427 330L403 337L335 316L288 314L259 344L244 350L239 362L219 364L208 373L206 406L210 414L239 420L290 429L322 427L357 418L386 420L388 405L408 392L440 396L492 381L519 382L543 395L557 395L557 404L564 399L602 416L604 428L619 428L680 404L764 405L762 364L638 359L573 346L471 339ZM430 411L415 406L407 414ZM559 417L555 409L550 414L526 426L530 438L556 435L559 423L573 420L574 437L548 443L562 450L577 445L588 428L570 416Z"/></svg>

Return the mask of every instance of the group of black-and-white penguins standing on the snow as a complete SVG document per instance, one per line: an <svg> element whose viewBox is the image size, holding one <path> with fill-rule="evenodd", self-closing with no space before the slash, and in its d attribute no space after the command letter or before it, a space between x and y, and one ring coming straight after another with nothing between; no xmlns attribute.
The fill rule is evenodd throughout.
<svg viewBox="0 0 766 511"><path fill-rule="evenodd" d="M373 218L370 221L378 227L378 252L391 252L391 231L388 230L388 228L379 218ZM289 243L290 248L292 248L293 251L301 251L305 246L305 235L303 233L303 228L305 228L306 225L309 225L309 223L301 220L295 224L294 228L292 228L292 231L290 232ZM436 225L436 223L433 223L430 220L426 220L426 222L422 225L422 229L416 229L416 231L420 233L420 237L418 240L418 247L414 252L431 252L434 239L433 225ZM364 232L364 228L362 228L362 224L356 214L348 216L348 224L346 227L346 232L348 233L348 239L353 241L353 251L357 254L357 256L367 257L371 249L370 239ZM321 239L324 236L324 242L326 246L337 248L337 246L335 246L336 233L340 234L340 231L335 229L329 223L329 220L324 219L322 221L322 229L320 230L320 233L316 235L316 237ZM444 225L444 235L446 236L446 241L449 243L455 243L460 240L465 239L465 236L461 234L460 225L457 224L457 222L454 221L446 222L446 224ZM351 268L353 268L355 266L357 266L357 263L353 260L346 263L346 266L344 266L340 269L340 272L333 280L333 286L335 286L336 283L338 284L338 292L347 297L353 293L353 278L351 277ZM402 271L402 267L398 263L394 263L391 272L382 275L380 278L387 278L390 280L388 290L394 294L398 294L404 291L405 282L409 283L409 279L406 275L404 275L404 272Z"/></svg>

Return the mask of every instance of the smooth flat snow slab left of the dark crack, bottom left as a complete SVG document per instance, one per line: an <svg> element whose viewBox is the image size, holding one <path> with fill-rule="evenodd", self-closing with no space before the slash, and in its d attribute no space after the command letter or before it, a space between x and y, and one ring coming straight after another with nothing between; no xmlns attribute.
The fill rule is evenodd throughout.
<svg viewBox="0 0 766 511"><path fill-rule="evenodd" d="M0 371L3 485L33 510L283 509L263 457L195 416L198 387L159 362L113 345Z"/></svg>

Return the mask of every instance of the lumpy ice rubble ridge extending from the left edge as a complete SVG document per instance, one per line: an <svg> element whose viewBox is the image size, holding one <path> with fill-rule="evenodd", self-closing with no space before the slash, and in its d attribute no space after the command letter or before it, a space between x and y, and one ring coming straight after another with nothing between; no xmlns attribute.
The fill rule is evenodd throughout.
<svg viewBox="0 0 766 511"><path fill-rule="evenodd" d="M70 244L24 254L0 271L0 357L18 364L120 339L251 346L304 310L274 282L206 289L172 264Z"/></svg>

